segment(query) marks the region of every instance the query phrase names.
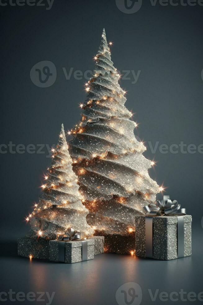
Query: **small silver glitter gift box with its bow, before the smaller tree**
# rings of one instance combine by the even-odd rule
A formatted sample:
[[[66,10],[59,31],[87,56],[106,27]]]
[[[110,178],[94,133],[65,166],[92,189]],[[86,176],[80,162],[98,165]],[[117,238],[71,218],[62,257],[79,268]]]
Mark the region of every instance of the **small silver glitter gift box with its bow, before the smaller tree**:
[[[49,242],[49,260],[67,264],[78,263],[94,258],[94,240],[80,239],[79,231],[65,230],[64,236]]]

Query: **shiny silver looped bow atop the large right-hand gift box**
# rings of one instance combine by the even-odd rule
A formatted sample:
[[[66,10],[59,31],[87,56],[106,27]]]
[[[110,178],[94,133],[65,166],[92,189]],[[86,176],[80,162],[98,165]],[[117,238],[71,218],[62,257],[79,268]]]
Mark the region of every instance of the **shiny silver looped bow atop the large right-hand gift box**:
[[[171,200],[169,195],[164,195],[163,199],[156,202],[157,204],[149,204],[143,207],[147,216],[186,215],[186,209],[181,209],[178,201]]]

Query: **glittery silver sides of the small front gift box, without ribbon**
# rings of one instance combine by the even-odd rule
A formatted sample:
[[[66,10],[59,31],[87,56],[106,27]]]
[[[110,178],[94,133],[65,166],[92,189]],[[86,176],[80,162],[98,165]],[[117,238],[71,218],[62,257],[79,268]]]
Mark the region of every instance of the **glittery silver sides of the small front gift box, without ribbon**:
[[[58,243],[61,241],[52,240],[49,242],[50,246],[50,257],[51,261],[59,261],[58,254]],[[65,263],[72,264],[82,261],[82,242],[72,241],[65,243]],[[88,239],[88,260],[94,258],[94,240]]]

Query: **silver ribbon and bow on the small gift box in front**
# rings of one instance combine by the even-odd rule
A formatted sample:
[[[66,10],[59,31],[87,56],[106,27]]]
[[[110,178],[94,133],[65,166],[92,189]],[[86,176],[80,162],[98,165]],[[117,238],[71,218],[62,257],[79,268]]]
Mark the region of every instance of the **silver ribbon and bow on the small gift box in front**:
[[[73,228],[68,228],[64,231],[65,234],[58,236],[58,258],[60,262],[65,262],[65,242],[82,242],[82,261],[88,260],[88,241],[80,238],[80,231],[75,231]]]

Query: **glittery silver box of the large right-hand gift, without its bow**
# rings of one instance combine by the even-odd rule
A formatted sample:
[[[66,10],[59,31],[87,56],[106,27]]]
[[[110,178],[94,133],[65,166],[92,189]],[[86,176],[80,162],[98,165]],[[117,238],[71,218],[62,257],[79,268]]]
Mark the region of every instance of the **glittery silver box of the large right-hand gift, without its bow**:
[[[178,241],[178,217],[182,217],[183,223],[179,230],[183,231],[183,239]],[[140,257],[149,257],[146,253],[149,245],[149,236],[153,240],[152,258],[156,260],[173,260],[178,258],[178,249],[183,247],[183,255],[192,255],[191,224],[192,216],[155,216],[147,217],[152,221],[152,232],[146,231],[146,216],[135,218],[135,254]],[[181,226],[180,226],[181,227]]]

